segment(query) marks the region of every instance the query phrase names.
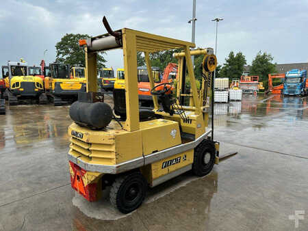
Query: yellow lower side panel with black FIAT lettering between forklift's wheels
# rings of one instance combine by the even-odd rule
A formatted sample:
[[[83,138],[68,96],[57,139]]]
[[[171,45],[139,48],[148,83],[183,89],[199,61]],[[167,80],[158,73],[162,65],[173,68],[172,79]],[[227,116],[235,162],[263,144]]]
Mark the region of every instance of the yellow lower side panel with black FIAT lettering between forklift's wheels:
[[[194,150],[188,150],[151,164],[152,179],[159,178],[194,161]]]

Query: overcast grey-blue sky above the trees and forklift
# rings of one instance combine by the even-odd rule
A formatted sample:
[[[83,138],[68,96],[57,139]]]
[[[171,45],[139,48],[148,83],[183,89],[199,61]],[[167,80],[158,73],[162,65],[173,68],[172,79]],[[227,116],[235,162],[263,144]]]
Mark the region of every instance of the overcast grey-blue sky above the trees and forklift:
[[[55,60],[55,44],[65,33],[106,33],[107,16],[114,29],[128,27],[181,40],[191,40],[192,0],[57,0],[1,1],[0,63],[23,57],[39,65],[47,49],[47,63]],[[242,51],[251,64],[258,51],[274,62],[308,62],[308,0],[196,0],[196,46],[215,46],[218,26],[218,64],[230,51]],[[121,51],[105,57],[107,66],[123,67]]]

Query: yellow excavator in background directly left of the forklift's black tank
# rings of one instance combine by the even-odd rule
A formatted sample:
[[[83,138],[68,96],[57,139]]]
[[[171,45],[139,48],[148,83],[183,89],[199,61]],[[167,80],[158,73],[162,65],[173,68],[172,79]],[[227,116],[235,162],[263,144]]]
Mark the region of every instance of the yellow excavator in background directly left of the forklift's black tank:
[[[61,106],[77,100],[79,92],[86,92],[86,79],[70,79],[68,64],[53,63],[49,64],[49,73],[44,79],[44,86],[53,105]]]

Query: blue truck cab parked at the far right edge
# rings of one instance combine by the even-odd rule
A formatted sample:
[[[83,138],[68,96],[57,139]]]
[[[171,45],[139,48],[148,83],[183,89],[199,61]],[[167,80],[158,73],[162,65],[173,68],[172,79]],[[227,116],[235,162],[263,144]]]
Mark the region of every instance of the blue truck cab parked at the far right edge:
[[[283,94],[289,96],[307,95],[307,70],[293,69],[285,73]]]

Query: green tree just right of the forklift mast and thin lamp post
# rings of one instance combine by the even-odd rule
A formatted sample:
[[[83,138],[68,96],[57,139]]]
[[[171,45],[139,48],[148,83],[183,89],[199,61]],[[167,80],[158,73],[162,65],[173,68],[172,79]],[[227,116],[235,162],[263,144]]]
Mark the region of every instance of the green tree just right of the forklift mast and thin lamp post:
[[[231,51],[229,56],[225,59],[224,66],[222,66],[219,77],[223,78],[240,78],[243,74],[244,65],[246,65],[246,58],[242,52],[234,55],[234,52]]]

